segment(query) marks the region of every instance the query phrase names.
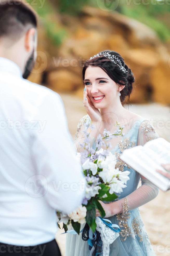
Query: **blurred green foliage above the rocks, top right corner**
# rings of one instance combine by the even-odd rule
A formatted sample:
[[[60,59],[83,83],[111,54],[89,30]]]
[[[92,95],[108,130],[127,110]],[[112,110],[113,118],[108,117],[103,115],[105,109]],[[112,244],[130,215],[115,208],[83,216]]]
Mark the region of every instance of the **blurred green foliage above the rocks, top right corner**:
[[[170,30],[160,19],[166,13],[170,17],[170,0],[97,0],[96,7],[136,19],[151,27],[162,41],[170,40]]]

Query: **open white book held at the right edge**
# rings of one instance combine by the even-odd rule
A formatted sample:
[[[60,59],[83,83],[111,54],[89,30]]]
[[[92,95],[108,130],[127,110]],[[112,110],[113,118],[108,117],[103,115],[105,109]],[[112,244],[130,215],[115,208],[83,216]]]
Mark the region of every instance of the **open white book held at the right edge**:
[[[148,141],[144,146],[125,149],[120,159],[149,181],[166,191],[170,189],[170,179],[157,170],[166,172],[161,164],[170,163],[170,143],[163,138]]]

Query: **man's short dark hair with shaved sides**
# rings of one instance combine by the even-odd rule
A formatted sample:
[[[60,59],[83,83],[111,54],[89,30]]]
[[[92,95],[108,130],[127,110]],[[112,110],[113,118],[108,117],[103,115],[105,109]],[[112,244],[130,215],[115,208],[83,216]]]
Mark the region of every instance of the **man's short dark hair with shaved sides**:
[[[0,0],[0,38],[17,39],[27,25],[37,28],[37,14],[24,0]]]

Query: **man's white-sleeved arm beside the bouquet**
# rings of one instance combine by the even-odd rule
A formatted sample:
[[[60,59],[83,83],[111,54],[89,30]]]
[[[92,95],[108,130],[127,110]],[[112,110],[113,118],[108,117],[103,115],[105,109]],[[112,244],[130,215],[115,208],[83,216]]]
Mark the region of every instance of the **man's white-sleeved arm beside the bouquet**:
[[[70,213],[82,203],[85,179],[60,96],[53,92],[45,96],[36,116],[44,127],[34,132],[32,153],[37,174],[47,185],[44,198],[54,209]]]

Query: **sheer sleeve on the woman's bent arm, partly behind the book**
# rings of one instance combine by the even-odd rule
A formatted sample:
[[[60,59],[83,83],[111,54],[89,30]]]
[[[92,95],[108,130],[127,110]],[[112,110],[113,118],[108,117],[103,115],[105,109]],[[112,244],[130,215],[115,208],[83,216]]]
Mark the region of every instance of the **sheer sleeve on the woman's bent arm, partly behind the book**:
[[[138,132],[138,145],[144,145],[147,141],[158,138],[158,133],[155,132],[154,127],[149,120],[145,120],[141,123]],[[129,211],[138,208],[145,203],[153,200],[159,193],[159,188],[156,187],[152,182],[146,179],[144,176],[141,177],[141,186],[129,194],[127,197],[122,198],[115,203],[117,204],[118,213],[122,213],[125,208]],[[125,207],[126,206],[126,207]]]

